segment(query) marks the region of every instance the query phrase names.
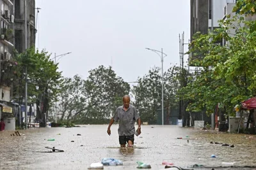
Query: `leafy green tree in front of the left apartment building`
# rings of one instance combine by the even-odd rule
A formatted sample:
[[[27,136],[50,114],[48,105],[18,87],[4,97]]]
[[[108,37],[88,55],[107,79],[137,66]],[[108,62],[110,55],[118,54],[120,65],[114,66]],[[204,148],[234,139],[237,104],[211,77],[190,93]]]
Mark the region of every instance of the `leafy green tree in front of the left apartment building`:
[[[14,99],[22,103],[25,97],[25,80],[28,82],[28,103],[36,103],[38,120],[44,126],[44,113],[48,116],[49,108],[56,101],[57,85],[60,83],[61,73],[58,65],[50,60],[50,55],[42,50],[29,48],[26,52],[15,54],[14,60],[18,65],[15,72],[19,82],[14,85]],[[27,74],[26,74],[27,72]]]

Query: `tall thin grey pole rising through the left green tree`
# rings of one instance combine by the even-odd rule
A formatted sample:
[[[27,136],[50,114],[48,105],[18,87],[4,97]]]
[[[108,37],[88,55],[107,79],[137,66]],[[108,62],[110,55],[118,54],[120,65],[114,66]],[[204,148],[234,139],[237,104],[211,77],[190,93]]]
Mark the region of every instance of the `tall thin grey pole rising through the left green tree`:
[[[28,31],[27,31],[27,1],[24,0],[24,5],[25,5],[25,51],[27,53],[27,48],[28,48]],[[25,129],[28,128],[28,72],[27,72],[27,66],[25,67]]]

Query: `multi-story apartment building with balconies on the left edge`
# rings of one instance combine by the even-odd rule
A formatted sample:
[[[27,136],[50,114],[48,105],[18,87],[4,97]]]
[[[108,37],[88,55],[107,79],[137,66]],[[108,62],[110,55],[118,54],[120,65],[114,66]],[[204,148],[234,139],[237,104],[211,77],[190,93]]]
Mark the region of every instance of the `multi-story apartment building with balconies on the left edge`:
[[[25,3],[26,2],[26,3]],[[35,0],[0,0],[0,118],[12,99],[12,77],[8,73],[14,50],[24,52],[35,45]],[[27,28],[27,32],[25,31]],[[27,41],[26,41],[27,40]]]

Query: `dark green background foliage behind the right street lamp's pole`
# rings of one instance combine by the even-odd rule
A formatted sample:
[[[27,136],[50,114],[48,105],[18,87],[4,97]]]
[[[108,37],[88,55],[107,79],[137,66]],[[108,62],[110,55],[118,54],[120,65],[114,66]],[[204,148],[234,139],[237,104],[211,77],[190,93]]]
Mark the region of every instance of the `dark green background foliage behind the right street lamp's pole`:
[[[172,108],[178,104],[175,95],[179,89],[179,67],[173,66],[164,73],[164,110],[170,116]],[[134,105],[138,108],[141,120],[148,124],[157,123],[157,110],[161,111],[162,85],[161,73],[158,67],[150,69],[148,74],[138,78],[138,84],[132,89]],[[166,120],[164,120],[166,124]]]

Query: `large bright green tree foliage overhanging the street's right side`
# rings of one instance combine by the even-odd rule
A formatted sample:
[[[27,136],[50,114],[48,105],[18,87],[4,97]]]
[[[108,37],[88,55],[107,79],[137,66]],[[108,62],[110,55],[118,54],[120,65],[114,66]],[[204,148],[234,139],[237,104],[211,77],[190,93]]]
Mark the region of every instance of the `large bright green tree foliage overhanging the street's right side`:
[[[180,91],[184,95],[179,97],[189,101],[187,110],[206,109],[207,113],[213,113],[220,104],[232,113],[236,104],[255,96],[256,31],[252,29],[253,25],[255,21],[246,20],[245,15],[227,15],[214,34],[195,34],[189,53],[204,58],[191,62],[202,71],[195,75],[195,81]],[[227,41],[226,45],[216,44],[222,39]]]

